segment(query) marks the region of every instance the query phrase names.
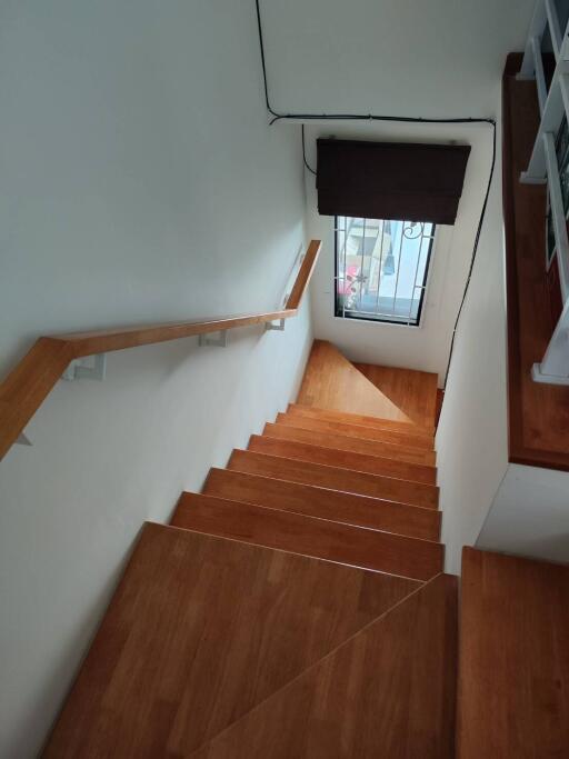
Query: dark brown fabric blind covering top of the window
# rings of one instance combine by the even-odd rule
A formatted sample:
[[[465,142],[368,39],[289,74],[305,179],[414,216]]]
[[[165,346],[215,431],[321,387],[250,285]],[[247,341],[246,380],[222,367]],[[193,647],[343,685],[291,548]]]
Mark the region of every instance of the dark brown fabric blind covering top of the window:
[[[317,140],[323,216],[453,224],[470,146]]]

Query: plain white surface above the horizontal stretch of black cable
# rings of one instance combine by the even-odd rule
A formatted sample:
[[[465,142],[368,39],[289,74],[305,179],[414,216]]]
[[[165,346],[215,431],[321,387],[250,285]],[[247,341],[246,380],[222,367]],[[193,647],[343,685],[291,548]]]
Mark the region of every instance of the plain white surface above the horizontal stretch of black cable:
[[[493,116],[535,0],[260,0],[282,111]]]

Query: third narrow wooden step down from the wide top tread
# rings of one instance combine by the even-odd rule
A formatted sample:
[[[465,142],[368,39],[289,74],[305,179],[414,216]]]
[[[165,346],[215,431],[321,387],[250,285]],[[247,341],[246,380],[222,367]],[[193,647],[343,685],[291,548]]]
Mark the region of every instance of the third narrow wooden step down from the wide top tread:
[[[439,502],[438,489],[421,482],[407,482],[393,477],[369,475],[251,450],[234,449],[227,468],[430,509],[437,509]]]

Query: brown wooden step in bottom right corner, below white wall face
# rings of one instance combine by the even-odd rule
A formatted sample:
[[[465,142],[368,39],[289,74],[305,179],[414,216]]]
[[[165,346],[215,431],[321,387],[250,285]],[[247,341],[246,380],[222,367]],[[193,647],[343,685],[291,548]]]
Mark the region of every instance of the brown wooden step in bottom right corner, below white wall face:
[[[462,553],[459,759],[569,756],[569,567]]]

